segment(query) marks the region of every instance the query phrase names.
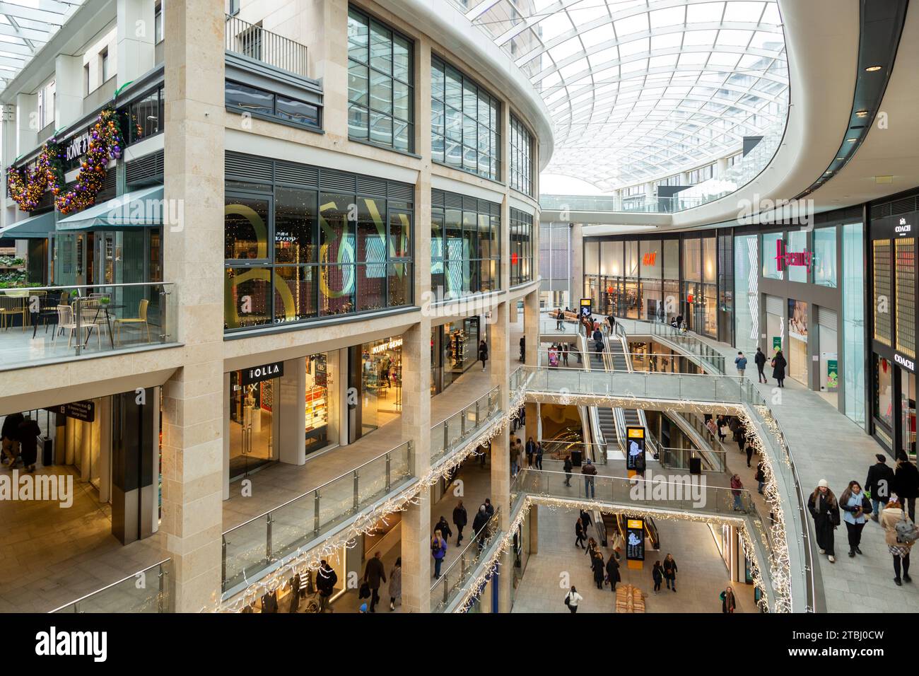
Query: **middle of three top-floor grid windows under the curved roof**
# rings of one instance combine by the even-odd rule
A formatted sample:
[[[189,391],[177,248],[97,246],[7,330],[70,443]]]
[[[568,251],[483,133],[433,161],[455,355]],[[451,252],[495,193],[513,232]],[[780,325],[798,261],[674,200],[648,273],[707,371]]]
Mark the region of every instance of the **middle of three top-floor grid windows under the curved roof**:
[[[484,178],[501,179],[500,103],[459,70],[431,57],[431,155]]]

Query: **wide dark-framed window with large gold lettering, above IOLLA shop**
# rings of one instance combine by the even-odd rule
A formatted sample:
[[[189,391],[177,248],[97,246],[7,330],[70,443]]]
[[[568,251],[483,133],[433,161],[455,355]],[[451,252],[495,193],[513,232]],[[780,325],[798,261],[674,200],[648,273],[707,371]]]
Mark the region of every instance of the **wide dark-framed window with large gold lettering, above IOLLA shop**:
[[[412,304],[411,203],[240,185],[225,200],[227,329]]]

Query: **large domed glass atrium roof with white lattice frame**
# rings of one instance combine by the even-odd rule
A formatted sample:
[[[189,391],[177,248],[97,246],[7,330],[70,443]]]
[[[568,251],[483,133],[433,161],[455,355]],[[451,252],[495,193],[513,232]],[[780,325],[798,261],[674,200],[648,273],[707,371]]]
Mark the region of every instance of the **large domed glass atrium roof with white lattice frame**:
[[[785,125],[775,0],[453,0],[542,95],[547,174],[605,191],[673,176]]]

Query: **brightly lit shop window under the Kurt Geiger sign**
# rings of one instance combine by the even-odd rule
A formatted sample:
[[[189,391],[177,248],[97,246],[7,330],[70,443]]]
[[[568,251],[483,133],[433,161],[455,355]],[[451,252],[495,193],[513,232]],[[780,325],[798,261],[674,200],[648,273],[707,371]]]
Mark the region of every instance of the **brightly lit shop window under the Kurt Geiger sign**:
[[[402,337],[361,347],[361,434],[377,430],[402,412]]]

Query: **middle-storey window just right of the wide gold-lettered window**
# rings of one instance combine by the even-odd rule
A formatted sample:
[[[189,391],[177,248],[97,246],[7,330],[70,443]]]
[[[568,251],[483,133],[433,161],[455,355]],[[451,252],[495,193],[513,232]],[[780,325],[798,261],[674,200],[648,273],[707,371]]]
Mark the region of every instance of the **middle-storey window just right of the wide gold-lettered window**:
[[[431,201],[432,292],[450,299],[500,289],[501,205],[440,190]]]

